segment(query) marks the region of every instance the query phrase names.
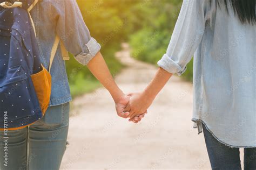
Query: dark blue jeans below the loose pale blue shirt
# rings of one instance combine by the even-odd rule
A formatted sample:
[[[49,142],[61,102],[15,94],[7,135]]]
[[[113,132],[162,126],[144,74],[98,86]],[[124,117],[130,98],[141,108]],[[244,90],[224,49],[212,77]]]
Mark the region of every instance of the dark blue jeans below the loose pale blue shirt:
[[[240,151],[237,147],[229,147],[215,139],[203,124],[203,132],[212,169],[241,169]],[[256,148],[244,148],[244,169],[256,169]]]

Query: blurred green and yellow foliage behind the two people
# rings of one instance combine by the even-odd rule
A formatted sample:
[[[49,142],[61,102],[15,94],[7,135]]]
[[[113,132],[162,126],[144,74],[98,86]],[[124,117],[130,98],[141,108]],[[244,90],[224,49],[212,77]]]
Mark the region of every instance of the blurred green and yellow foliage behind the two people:
[[[182,0],[77,0],[91,36],[102,45],[112,74],[124,67],[114,53],[129,41],[134,58],[156,65],[166,52]],[[89,70],[75,59],[66,62],[73,96],[99,87]],[[192,79],[192,62],[184,73]]]

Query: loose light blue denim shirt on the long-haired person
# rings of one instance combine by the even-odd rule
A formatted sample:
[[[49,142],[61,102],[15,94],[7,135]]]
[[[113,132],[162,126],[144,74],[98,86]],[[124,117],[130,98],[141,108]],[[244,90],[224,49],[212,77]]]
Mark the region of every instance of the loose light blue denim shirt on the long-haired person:
[[[158,65],[182,75],[194,54],[192,121],[199,133],[204,123],[221,143],[256,147],[256,25],[210,2],[184,0]]]

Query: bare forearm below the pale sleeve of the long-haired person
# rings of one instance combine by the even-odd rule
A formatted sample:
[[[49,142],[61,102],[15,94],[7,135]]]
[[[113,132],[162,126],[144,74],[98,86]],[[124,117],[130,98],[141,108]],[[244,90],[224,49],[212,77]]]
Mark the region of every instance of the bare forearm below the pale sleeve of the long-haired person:
[[[143,95],[150,100],[154,100],[157,94],[163,89],[167,81],[173,74],[167,72],[163,68],[159,67],[156,76],[150,82],[150,84],[143,91]]]

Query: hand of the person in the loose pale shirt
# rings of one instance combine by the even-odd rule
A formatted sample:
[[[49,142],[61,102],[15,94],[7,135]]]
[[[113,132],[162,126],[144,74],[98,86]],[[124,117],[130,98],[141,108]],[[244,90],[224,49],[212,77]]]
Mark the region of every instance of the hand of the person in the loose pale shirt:
[[[152,104],[153,99],[147,98],[143,93],[132,93],[129,96],[130,102],[125,108],[126,112],[130,112],[129,121],[140,121],[147,113],[147,109]]]

